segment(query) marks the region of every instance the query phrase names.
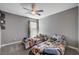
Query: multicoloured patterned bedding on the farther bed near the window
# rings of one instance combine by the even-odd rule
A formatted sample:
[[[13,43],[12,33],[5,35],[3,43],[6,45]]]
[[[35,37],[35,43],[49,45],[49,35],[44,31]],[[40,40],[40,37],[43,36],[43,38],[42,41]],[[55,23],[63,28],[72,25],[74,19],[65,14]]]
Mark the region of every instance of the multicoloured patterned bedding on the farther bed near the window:
[[[42,43],[42,42],[44,42],[46,40],[47,40],[47,37],[43,36],[43,35],[39,35],[39,36],[36,36],[36,37],[28,38],[26,43],[25,43],[25,47],[27,49],[27,48],[33,47],[34,45]]]

